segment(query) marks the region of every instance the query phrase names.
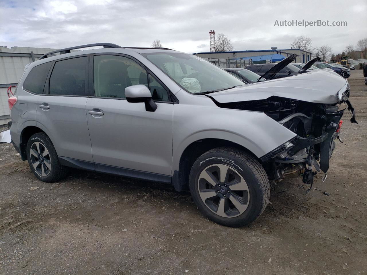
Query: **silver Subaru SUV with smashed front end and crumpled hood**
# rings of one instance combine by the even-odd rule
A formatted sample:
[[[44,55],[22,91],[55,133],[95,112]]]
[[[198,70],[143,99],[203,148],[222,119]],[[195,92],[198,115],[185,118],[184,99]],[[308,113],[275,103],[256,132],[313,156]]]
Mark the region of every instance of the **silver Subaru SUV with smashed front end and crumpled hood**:
[[[244,85],[166,48],[61,49],[26,67],[8,100],[11,140],[41,181],[73,167],[170,183],[237,227],[264,211],[269,179],[312,184],[312,165],[327,175],[339,104],[356,122],[348,81],[314,71]]]

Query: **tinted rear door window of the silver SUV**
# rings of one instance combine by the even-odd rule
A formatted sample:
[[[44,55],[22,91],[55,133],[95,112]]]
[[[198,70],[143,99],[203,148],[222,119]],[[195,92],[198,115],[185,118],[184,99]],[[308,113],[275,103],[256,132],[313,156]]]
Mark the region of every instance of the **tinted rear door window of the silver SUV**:
[[[57,61],[50,77],[50,95],[85,95],[87,56]]]

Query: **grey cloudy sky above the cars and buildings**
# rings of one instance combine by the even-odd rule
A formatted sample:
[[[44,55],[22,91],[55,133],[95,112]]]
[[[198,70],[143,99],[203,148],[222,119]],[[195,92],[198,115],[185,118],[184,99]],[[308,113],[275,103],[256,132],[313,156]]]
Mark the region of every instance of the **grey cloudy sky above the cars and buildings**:
[[[348,26],[274,26],[275,21],[347,21]],[[235,50],[290,48],[299,35],[337,54],[367,37],[366,0],[0,0],[0,45],[63,48],[97,42],[209,51],[209,30]]]

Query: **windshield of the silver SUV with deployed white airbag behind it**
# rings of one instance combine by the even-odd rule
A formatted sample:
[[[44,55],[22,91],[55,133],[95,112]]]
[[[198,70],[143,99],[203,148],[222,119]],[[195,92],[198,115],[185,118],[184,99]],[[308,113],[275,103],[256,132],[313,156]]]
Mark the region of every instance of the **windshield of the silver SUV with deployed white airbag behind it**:
[[[192,94],[223,91],[244,85],[238,78],[196,55],[179,52],[142,55]]]

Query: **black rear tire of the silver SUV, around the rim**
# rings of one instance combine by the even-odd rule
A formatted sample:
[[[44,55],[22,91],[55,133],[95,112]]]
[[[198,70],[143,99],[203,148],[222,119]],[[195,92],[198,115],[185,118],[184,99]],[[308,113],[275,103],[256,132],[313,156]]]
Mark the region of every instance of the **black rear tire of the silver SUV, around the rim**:
[[[47,149],[48,151],[48,155],[47,155],[47,160],[45,161],[49,161],[51,166],[50,169],[47,170],[47,175],[45,173],[45,175],[41,175],[40,172],[40,166],[42,166],[42,164],[39,164],[39,166],[37,166],[37,168],[34,168],[33,163],[36,163],[36,159],[34,155],[31,156],[31,148],[35,148],[36,147],[36,143],[39,142],[41,144],[39,144],[40,147],[42,147],[42,144],[44,146],[44,148]],[[37,152],[36,152],[37,153]],[[56,153],[55,147],[51,142],[50,137],[48,137],[46,135],[46,133],[40,132],[40,133],[35,133],[34,135],[32,135],[27,143],[27,159],[28,159],[28,164],[30,169],[32,170],[33,174],[37,177],[37,179],[41,180],[41,181],[45,181],[45,182],[54,182],[54,181],[58,181],[61,180],[63,177],[65,177],[68,173],[68,167],[63,166],[60,164],[59,159],[58,159],[58,155]],[[45,170],[47,169],[46,166],[44,166]]]

